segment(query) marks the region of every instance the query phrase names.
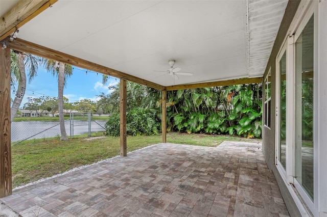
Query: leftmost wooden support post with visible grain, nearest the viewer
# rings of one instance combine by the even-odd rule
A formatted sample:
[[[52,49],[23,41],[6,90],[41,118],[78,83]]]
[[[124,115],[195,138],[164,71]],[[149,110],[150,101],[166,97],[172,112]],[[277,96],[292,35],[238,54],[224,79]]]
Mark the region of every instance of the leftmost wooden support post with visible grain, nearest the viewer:
[[[10,49],[0,49],[0,198],[12,194]]]

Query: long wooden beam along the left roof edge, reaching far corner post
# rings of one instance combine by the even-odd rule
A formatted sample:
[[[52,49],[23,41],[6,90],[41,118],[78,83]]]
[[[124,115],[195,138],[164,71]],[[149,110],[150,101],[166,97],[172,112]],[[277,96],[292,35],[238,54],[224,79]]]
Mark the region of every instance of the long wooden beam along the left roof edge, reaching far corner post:
[[[99,64],[92,63],[87,60],[83,60],[83,59],[80,59],[80,58],[77,58],[77,57],[74,57],[71,55],[67,55],[66,53],[63,53],[63,52],[60,52],[57,50],[53,50],[50,48],[46,48],[46,47],[22,40],[22,39],[17,39],[16,41],[9,42],[9,47],[14,50],[31,53],[32,55],[44,57],[46,59],[56,60],[56,61],[63,62],[63,63],[69,64],[69,65],[78,66],[78,67],[81,67],[81,68],[84,68],[87,70],[99,72],[99,73],[110,75],[110,76],[117,77],[120,79],[126,79],[131,82],[145,85],[145,86],[155,88],[158,90],[165,89],[164,86],[155,84],[153,82],[149,82],[148,80],[138,78],[133,75],[129,75],[124,72],[114,70],[114,69],[111,69],[111,68],[108,68],[105,66],[101,66]]]

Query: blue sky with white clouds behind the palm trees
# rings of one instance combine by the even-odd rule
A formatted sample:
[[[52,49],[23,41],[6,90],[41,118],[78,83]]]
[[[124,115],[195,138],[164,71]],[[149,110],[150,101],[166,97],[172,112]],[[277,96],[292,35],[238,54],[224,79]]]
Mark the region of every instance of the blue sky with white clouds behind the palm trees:
[[[28,79],[28,78],[27,78]],[[87,71],[78,67],[74,67],[73,75],[67,79],[67,85],[64,89],[64,96],[69,99],[69,102],[75,102],[81,99],[91,99],[97,101],[97,95],[103,93],[110,93],[107,87],[119,82],[119,79],[110,77],[106,86],[102,85],[102,74]],[[13,92],[13,89],[12,89]],[[40,96],[58,96],[57,77],[52,76],[51,73],[46,72],[43,68],[39,68],[37,76],[31,83],[27,81],[26,93],[21,102],[20,107],[27,102],[27,97]],[[13,98],[13,94],[11,96]]]

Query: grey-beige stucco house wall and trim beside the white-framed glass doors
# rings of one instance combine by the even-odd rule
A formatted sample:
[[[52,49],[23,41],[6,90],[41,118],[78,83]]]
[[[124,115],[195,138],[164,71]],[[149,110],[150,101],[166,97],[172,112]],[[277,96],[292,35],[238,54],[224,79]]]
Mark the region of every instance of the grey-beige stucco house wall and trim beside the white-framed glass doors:
[[[285,15],[283,17],[283,21],[279,28],[268,64],[265,71],[265,75],[267,75],[269,69],[271,68],[271,128],[263,127],[262,135],[262,151],[264,153],[267,165],[269,169],[271,169],[276,177],[279,188],[281,189],[281,193],[284,199],[284,202],[287,206],[287,209],[291,216],[301,216],[298,208],[296,207],[281,175],[279,175],[277,168],[275,166],[275,118],[276,118],[276,67],[275,61],[276,56],[279,49],[282,46],[282,43],[287,35],[287,30],[290,26],[290,23],[294,17],[296,9],[299,5],[300,1],[298,0],[290,0]]]

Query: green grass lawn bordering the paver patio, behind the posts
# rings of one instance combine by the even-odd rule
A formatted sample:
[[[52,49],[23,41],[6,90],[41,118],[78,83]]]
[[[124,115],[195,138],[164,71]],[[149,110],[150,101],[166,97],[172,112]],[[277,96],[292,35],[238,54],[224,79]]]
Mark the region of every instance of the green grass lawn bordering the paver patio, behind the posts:
[[[100,134],[92,134],[100,135]],[[84,138],[83,138],[84,137]],[[167,142],[216,147],[223,141],[251,141],[226,135],[186,134],[171,132]],[[134,151],[161,142],[161,135],[127,137],[127,151]],[[75,167],[92,164],[120,154],[120,138],[105,137],[85,140],[80,135],[68,141],[58,138],[29,140],[12,146],[13,187],[50,177]]]

